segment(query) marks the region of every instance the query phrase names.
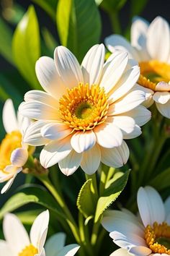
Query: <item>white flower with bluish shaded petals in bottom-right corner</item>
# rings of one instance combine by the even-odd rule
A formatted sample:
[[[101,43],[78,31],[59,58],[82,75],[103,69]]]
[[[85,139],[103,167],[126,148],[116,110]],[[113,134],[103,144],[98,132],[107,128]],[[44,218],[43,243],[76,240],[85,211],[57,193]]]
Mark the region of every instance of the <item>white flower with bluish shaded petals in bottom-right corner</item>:
[[[122,247],[112,256],[170,255],[170,197],[164,203],[153,187],[140,187],[138,209],[141,221],[126,209],[104,215],[104,229]]]

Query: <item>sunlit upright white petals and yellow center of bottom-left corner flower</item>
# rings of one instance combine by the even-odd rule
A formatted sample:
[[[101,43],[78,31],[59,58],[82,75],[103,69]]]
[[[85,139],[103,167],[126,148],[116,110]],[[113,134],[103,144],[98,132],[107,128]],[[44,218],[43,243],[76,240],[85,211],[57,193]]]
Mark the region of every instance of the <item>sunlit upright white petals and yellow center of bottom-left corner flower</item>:
[[[45,210],[35,219],[30,238],[19,219],[12,213],[4,217],[3,231],[6,241],[0,240],[0,256],[45,256],[49,212]]]

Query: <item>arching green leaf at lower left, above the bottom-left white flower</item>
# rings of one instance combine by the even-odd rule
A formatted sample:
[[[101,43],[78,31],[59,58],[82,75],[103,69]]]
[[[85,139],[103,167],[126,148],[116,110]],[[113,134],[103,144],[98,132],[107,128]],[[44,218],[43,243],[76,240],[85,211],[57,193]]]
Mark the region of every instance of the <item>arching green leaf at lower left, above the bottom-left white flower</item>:
[[[22,189],[22,192],[19,192],[9,198],[0,210],[0,219],[3,218],[5,213],[12,212],[13,210],[18,209],[23,205],[27,205],[30,202],[42,205],[43,207],[53,210],[53,212],[61,215],[61,212],[58,210],[57,203],[48,191],[44,189],[44,187],[32,185],[29,187],[25,186],[24,189]]]

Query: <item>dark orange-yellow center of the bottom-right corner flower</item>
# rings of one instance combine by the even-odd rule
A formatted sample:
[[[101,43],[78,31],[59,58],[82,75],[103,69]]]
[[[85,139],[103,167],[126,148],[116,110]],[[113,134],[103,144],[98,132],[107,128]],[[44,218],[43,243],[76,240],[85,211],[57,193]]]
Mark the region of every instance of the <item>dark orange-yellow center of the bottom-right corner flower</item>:
[[[152,252],[170,255],[170,226],[167,223],[154,222],[153,226],[148,225],[145,229],[145,239]]]

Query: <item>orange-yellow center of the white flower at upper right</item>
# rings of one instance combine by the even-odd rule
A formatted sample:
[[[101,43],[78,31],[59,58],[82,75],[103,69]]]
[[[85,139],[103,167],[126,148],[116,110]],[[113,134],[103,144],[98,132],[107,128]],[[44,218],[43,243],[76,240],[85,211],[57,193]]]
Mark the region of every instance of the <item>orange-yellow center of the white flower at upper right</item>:
[[[151,90],[155,90],[158,82],[170,81],[170,65],[164,62],[151,60],[139,63],[140,77],[138,84]]]

